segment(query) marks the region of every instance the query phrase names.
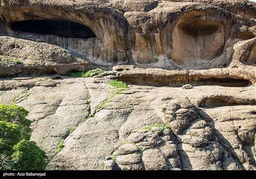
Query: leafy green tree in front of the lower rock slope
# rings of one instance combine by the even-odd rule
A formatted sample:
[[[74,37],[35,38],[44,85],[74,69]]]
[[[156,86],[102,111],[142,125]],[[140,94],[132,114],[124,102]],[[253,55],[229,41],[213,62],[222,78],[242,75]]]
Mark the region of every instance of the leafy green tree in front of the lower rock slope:
[[[0,105],[0,169],[42,170],[46,155],[31,137],[28,111],[18,105]]]

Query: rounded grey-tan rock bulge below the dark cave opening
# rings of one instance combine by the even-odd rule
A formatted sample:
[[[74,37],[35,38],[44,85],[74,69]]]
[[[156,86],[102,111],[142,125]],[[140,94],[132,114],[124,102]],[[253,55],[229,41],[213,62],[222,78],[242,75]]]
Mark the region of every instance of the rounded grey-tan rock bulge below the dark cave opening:
[[[71,52],[20,38],[0,36],[0,76],[66,74],[93,68]]]

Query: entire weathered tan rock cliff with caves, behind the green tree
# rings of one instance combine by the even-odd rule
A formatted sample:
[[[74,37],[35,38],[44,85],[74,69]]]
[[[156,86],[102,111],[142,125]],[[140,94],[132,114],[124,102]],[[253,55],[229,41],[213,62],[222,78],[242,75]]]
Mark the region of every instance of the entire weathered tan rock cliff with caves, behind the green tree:
[[[240,0],[0,0],[0,103],[28,109],[47,169],[256,169],[255,12]],[[106,72],[54,77],[93,68]]]

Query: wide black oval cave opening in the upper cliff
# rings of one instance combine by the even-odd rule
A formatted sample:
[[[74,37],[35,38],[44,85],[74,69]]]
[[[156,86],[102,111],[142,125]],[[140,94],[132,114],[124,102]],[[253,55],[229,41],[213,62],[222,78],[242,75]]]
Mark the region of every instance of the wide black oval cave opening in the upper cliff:
[[[24,33],[56,35],[65,38],[87,39],[95,37],[92,29],[70,20],[22,20],[13,22],[11,28],[14,31],[22,31]]]

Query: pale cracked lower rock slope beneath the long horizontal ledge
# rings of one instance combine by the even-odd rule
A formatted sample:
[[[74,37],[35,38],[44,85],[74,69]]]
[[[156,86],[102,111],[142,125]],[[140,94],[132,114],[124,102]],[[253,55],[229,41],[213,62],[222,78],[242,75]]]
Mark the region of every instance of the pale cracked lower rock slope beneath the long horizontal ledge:
[[[93,94],[116,90],[108,77],[51,78],[0,82],[1,103],[29,110],[47,169],[255,169],[255,86],[129,85],[99,109],[106,97]],[[237,104],[204,104],[216,97]]]

